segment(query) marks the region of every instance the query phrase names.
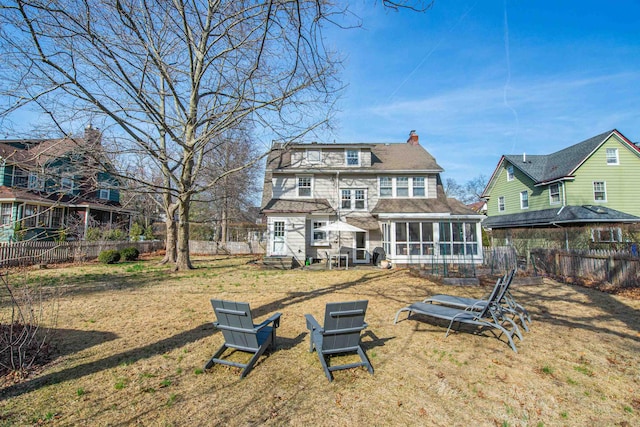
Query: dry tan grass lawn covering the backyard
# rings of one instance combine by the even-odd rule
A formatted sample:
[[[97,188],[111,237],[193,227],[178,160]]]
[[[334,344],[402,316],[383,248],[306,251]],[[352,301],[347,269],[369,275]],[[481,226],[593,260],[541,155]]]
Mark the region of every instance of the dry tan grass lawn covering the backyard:
[[[0,425],[640,425],[640,301],[552,281],[516,286],[534,320],[516,354],[490,332],[445,339],[441,325],[393,325],[426,295],[486,289],[405,270],[265,271],[248,261],[29,272],[63,289],[59,355],[1,386]],[[222,343],[212,297],[247,301],[258,320],[283,313],[277,350],[244,380],[220,365],[201,372]],[[303,315],[321,319],[326,302],[352,299],[369,300],[363,346],[375,374],[339,371],[329,383]]]

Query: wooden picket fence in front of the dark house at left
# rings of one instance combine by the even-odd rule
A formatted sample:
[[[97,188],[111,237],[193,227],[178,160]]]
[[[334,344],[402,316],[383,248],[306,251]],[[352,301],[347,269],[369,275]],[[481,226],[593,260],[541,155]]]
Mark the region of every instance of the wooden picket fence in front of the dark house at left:
[[[148,242],[42,242],[25,241],[0,244],[0,268],[86,261],[98,257],[107,249],[137,248],[140,253],[164,249],[164,241]]]

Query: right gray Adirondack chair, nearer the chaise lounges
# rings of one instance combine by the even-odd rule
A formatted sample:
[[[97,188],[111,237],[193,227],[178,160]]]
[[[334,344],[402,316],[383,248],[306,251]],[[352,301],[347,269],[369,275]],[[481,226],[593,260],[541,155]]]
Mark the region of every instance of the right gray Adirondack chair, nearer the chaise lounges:
[[[367,300],[328,303],[324,313],[324,328],[310,315],[305,314],[309,329],[309,352],[315,349],[324,373],[331,382],[331,372],[340,369],[365,366],[370,374],[373,367],[360,346],[360,332],[367,324],[364,315],[367,311]],[[328,359],[333,355],[357,353],[360,362],[329,366]]]

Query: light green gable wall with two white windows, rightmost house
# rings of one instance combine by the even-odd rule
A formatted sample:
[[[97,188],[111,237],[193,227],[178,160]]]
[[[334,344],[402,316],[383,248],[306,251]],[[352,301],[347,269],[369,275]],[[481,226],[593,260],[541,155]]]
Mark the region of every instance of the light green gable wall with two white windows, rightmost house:
[[[606,149],[618,149],[618,165],[608,165]],[[640,216],[640,155],[612,136],[589,157],[567,182],[567,204],[601,205]],[[606,201],[596,201],[593,182],[606,183]]]

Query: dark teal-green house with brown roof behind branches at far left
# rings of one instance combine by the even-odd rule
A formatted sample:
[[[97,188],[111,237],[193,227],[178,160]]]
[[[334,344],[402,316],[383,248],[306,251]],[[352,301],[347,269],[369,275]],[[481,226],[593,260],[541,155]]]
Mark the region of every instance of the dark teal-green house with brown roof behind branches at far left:
[[[91,227],[129,227],[101,133],[0,141],[0,242],[82,239]]]

